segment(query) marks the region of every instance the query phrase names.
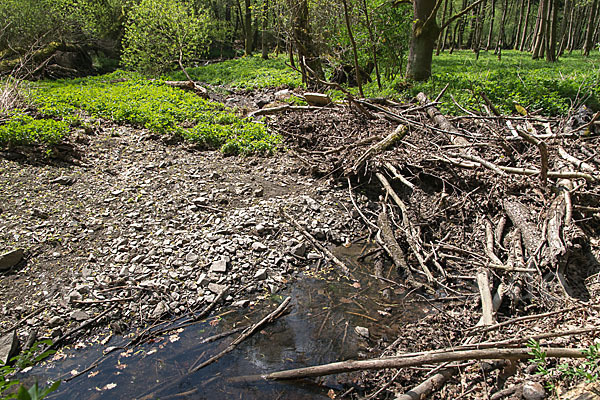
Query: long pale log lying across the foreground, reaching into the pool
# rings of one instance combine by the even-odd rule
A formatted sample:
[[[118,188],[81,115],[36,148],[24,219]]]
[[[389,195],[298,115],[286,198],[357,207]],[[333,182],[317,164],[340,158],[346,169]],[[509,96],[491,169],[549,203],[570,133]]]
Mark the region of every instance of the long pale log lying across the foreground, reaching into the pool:
[[[550,358],[585,358],[584,349],[546,348],[546,357]],[[296,368],[272,372],[260,376],[265,380],[303,379],[315,376],[342,374],[354,371],[381,370],[388,368],[408,368],[425,364],[439,364],[466,360],[528,360],[533,358],[531,349],[524,348],[489,348],[481,350],[461,350],[438,353],[427,353],[415,357],[389,357],[368,360],[349,360],[312,367]],[[247,377],[247,379],[259,377]]]

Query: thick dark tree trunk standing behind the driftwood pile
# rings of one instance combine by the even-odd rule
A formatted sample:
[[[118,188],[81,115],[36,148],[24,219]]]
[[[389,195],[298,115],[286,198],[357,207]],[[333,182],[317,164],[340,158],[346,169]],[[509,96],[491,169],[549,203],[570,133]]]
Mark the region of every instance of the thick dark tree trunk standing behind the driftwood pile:
[[[414,19],[406,77],[426,81],[431,77],[435,40],[440,30],[435,20],[436,0],[414,0]]]

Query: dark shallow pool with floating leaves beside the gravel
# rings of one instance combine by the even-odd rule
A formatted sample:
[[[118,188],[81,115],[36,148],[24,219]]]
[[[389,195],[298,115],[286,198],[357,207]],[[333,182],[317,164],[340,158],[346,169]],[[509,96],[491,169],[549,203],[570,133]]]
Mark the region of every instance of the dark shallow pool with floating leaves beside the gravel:
[[[403,303],[400,288],[370,276],[372,266],[356,261],[360,251],[357,245],[335,251],[352,266],[358,282],[340,279],[335,271],[314,266],[288,289],[265,297],[254,307],[213,316],[133,350],[113,351],[96,368],[63,382],[49,398],[327,399],[332,389],[339,393],[350,388],[357,375],[296,382],[247,381],[239,377],[368,356],[374,342],[382,337],[395,339],[402,324],[427,312]],[[194,364],[224,349],[239,333],[200,344],[204,338],[257,322],[286,296],[292,297],[287,315],[218,362],[194,374],[187,373]],[[369,338],[360,336],[356,327],[367,328]],[[30,378],[72,376],[86,370],[107,346],[127,342],[127,338],[113,337],[105,345],[89,343],[85,348],[68,350],[58,359],[36,367]]]

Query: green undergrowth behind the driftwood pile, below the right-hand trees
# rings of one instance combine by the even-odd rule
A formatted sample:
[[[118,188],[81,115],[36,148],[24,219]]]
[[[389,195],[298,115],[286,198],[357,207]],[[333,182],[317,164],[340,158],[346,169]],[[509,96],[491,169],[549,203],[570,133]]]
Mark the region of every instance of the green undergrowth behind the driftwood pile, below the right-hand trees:
[[[503,114],[516,112],[515,103],[529,112],[565,115],[572,107],[585,104],[600,109],[600,55],[586,58],[581,54],[561,57],[558,62],[532,60],[531,54],[503,51],[499,61],[493,52],[481,52],[479,60],[471,51],[443,53],[433,58],[433,75],[424,83],[407,84],[403,78],[384,82],[383,90],[375,82],[365,87],[366,96],[389,96],[407,100],[419,92],[435,98],[448,85],[440,99],[447,114],[464,114],[460,106],[484,112],[481,93],[485,93]],[[374,74],[373,74],[374,75]]]

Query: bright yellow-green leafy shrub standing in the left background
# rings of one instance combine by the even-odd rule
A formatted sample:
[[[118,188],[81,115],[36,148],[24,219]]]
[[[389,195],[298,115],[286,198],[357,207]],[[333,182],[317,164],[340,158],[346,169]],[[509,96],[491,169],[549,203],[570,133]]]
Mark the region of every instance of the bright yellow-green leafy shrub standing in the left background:
[[[208,49],[211,20],[179,0],[142,0],[130,12],[122,62],[139,72],[158,74],[187,63]]]

